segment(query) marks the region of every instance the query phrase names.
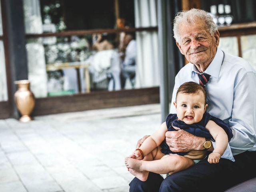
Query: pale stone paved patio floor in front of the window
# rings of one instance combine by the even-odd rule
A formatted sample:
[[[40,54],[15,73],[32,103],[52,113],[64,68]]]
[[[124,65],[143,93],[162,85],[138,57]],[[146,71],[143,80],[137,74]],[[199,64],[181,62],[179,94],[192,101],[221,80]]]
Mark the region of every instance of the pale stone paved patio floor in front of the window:
[[[124,157],[160,121],[160,104],[0,120],[0,191],[127,192]]]

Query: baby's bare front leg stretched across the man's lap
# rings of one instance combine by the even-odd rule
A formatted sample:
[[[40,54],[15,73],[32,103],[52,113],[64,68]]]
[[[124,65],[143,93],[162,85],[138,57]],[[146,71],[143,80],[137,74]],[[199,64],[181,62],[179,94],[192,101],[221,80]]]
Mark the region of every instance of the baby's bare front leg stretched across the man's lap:
[[[172,174],[192,166],[194,162],[190,158],[170,154],[166,158],[154,161],[140,161],[130,158],[128,164],[130,168],[140,172],[150,171],[158,174]]]

